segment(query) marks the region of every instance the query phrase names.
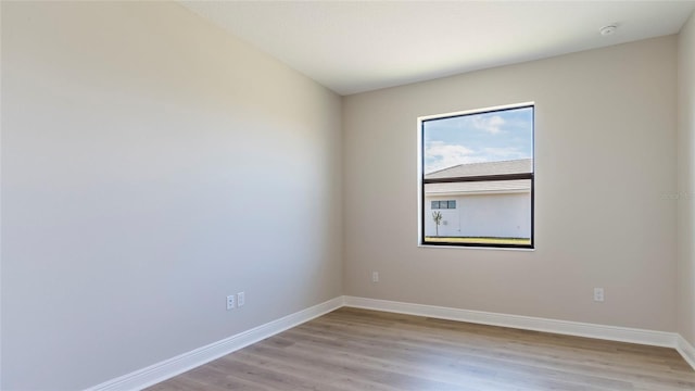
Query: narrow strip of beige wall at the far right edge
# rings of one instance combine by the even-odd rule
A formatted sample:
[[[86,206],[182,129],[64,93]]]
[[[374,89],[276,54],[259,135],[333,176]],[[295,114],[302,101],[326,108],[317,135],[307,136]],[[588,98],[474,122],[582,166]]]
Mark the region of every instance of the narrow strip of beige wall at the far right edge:
[[[678,331],[695,345],[695,14],[678,49]]]

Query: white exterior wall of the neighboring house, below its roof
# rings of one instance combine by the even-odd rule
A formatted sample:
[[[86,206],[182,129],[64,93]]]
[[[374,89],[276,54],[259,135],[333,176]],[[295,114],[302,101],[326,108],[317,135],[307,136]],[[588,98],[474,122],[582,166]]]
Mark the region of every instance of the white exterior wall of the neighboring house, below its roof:
[[[455,200],[456,209],[437,210],[442,214],[442,237],[531,237],[531,193],[458,194],[425,197],[425,235],[435,236],[432,203]]]

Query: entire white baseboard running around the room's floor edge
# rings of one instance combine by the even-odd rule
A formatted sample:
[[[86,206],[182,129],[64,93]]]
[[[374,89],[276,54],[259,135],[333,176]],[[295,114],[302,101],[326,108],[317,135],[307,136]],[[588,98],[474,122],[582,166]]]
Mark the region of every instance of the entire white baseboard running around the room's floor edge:
[[[546,319],[531,316],[507,315],[483,311],[459,310],[434,305],[413,304],[356,297],[339,297],[309,308],[290,314],[251,330],[240,332],[222,341],[211,343],[176,357],[165,360],[147,368],[105,381],[86,391],[129,391],[169,379],[176,375],[238,351],[250,344],[273,337],[342,306],[427,316],[440,319],[468,321],[491,326],[503,326],[523,330],[554,332],[567,336],[587,337],[610,341],[641,343],[675,349],[695,369],[695,348],[675,332],[664,332],[627,327],[585,324]]]

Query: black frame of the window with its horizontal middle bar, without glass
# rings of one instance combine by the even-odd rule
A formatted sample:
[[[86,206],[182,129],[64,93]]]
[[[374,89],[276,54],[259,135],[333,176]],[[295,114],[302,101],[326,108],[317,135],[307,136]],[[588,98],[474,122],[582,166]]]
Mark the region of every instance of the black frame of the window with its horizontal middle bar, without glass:
[[[495,112],[505,112],[510,110],[519,110],[519,109],[531,109],[531,172],[522,173],[522,174],[500,174],[500,175],[481,175],[481,176],[470,176],[470,177],[451,177],[451,178],[425,178],[425,124],[429,121],[439,121],[445,118],[453,117],[462,117],[462,116],[470,116],[470,115],[479,115],[479,114],[489,114]],[[442,115],[429,115],[427,117],[418,118],[419,126],[419,199],[420,199],[420,218],[419,218],[419,244],[427,247],[458,247],[458,248],[501,248],[501,249],[535,249],[535,103],[522,103],[517,105],[507,105],[500,106],[493,109],[482,109],[482,110],[472,110],[466,111],[462,113],[452,113],[452,114],[442,114]],[[425,186],[429,184],[446,184],[446,182],[468,182],[468,181],[498,181],[498,180],[519,180],[527,179],[530,180],[530,191],[531,191],[531,237],[529,244],[510,244],[510,243],[462,243],[462,242],[453,242],[453,241],[427,241],[425,235],[425,211],[426,211],[426,199],[425,199]],[[440,201],[441,202],[441,201]]]

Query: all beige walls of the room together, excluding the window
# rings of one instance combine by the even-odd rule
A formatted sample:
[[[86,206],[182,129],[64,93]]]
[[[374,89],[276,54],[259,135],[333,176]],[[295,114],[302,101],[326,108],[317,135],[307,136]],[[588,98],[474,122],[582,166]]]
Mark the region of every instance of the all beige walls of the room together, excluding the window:
[[[341,106],[176,4],[1,10],[2,390],[94,386],[343,293],[695,343],[693,17]],[[527,101],[536,250],[417,248],[416,118]]]

